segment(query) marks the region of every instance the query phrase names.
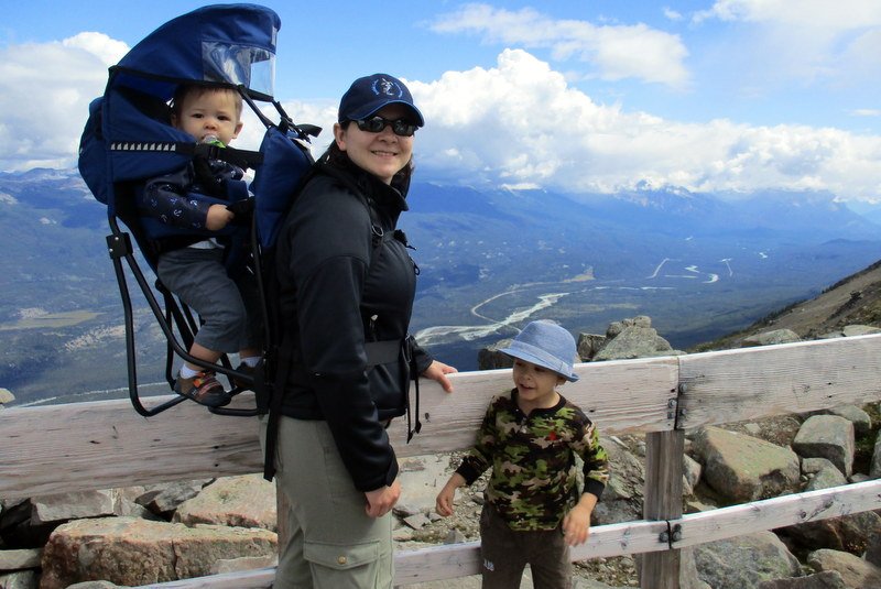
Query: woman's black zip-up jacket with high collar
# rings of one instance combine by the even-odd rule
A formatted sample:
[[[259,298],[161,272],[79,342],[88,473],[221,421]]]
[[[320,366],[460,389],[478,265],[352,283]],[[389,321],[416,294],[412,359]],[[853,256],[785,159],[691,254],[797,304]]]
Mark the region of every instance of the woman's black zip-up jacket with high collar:
[[[415,378],[404,345],[417,269],[395,232],[407,206],[404,194],[354,166],[318,163],[315,172],[278,243],[282,330],[294,338],[281,413],[326,421],[355,487],[372,491],[398,476],[385,425],[405,412]],[[387,239],[374,250],[379,233]],[[400,341],[401,353],[369,367],[365,343],[383,340]],[[413,353],[421,373],[432,360],[418,347]]]

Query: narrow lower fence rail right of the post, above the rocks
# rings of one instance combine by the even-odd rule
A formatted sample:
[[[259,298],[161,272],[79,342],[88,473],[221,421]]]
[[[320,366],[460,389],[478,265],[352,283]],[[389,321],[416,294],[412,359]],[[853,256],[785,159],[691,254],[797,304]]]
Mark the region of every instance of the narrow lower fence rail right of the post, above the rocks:
[[[754,501],[718,510],[683,515],[671,525],[679,525],[682,535],[673,543],[684,548],[787,525],[839,517],[881,509],[881,480],[871,480],[820,489],[806,493]]]

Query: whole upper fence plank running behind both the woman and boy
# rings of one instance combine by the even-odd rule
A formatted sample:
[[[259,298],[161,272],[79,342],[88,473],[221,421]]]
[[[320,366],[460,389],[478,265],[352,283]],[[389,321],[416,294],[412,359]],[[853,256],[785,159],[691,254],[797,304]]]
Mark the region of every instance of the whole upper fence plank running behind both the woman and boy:
[[[675,359],[581,364],[578,372],[584,382],[567,384],[565,394],[603,433],[672,427],[665,404],[676,377]],[[489,400],[511,386],[510,370],[453,379],[453,394],[422,381],[422,434],[406,444],[405,418],[390,428],[399,456],[469,447]],[[151,407],[168,399],[143,403]],[[252,395],[239,395],[233,406],[252,407]],[[255,417],[215,415],[189,402],[149,418],[137,414],[128,400],[13,406],[0,412],[0,497],[260,472],[258,429]]]

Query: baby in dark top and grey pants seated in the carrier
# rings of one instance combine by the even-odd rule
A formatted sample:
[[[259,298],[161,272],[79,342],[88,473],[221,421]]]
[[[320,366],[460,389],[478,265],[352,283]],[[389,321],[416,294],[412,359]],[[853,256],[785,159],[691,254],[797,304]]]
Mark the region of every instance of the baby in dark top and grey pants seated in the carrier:
[[[230,88],[181,85],[172,101],[172,124],[199,143],[220,148],[241,131],[241,96]],[[194,160],[183,170],[152,178],[139,195],[144,222],[166,237],[154,240],[159,251],[156,275],[203,320],[189,355],[209,364],[224,353],[239,352],[239,370],[250,372],[260,360],[259,314],[255,285],[243,264],[227,257],[236,215],[227,205],[248,199],[243,171],[220,160]],[[203,405],[219,407],[230,401],[215,372],[184,362],[175,392]]]

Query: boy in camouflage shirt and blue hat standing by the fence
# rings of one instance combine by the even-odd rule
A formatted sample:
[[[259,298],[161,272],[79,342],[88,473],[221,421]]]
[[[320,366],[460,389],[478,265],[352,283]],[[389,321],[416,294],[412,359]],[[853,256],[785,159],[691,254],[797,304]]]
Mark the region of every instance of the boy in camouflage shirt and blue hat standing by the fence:
[[[574,382],[575,339],[533,321],[502,352],[514,358],[514,389],[492,400],[470,454],[437,495],[453,513],[456,489],[492,467],[480,514],[483,589],[520,587],[526,564],[536,589],[572,587],[569,547],[583,544],[609,478],[599,433],[556,386]],[[584,460],[578,493],[575,456]]]

